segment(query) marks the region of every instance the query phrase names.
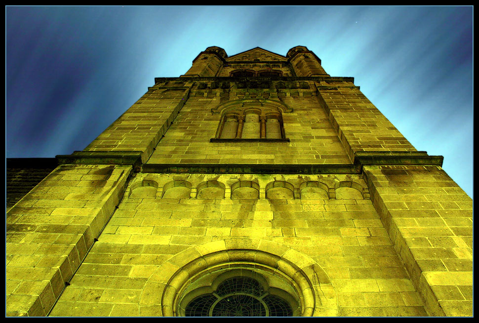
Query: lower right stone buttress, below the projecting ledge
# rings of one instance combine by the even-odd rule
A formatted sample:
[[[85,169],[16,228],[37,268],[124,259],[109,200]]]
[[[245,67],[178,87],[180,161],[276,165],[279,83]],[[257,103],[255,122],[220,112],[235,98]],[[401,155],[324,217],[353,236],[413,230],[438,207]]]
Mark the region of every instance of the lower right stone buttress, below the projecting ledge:
[[[430,315],[470,316],[471,198],[438,166],[364,170],[371,199]]]

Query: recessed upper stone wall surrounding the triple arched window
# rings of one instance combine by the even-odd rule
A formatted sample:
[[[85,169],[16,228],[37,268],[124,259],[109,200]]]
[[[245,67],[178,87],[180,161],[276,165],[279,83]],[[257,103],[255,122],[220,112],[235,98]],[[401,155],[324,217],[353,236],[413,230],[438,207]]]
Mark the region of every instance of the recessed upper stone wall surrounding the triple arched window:
[[[211,84],[207,82],[208,85]],[[297,82],[293,82],[295,86]],[[233,83],[232,83],[233,84]],[[338,164],[351,163],[339,137],[310,89],[193,88],[186,105],[156,146],[148,163],[250,163]],[[235,85],[236,87],[236,85]],[[239,99],[271,99],[293,110],[283,113],[284,132],[290,142],[210,142],[221,114],[211,110]]]

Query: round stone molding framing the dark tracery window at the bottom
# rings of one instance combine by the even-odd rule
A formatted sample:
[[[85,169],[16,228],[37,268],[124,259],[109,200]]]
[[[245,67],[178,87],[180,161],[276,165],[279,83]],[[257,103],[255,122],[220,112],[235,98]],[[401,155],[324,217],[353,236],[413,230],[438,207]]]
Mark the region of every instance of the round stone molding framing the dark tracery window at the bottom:
[[[296,292],[298,316],[338,314],[336,292],[311,257],[277,242],[232,238],[189,247],[160,265],[140,296],[140,316],[179,316],[188,286],[204,275],[238,269],[268,273],[289,282]]]

